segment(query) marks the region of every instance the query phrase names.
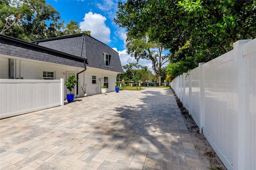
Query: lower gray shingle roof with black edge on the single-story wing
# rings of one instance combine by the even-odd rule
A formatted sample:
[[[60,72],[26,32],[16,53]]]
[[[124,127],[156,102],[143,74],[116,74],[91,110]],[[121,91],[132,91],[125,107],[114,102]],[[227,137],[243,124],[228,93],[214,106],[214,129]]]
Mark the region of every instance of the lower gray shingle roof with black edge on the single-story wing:
[[[0,34],[0,54],[84,68],[86,59]]]

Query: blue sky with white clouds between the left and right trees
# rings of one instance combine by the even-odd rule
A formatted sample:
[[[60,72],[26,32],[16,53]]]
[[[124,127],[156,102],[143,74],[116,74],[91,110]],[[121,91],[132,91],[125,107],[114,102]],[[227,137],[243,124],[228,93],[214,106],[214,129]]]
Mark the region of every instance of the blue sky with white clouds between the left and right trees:
[[[122,65],[136,60],[126,53],[126,30],[113,21],[118,10],[118,0],[46,0],[68,23],[78,22],[82,31],[91,31],[91,36],[118,51]],[[149,60],[139,64],[152,70]]]

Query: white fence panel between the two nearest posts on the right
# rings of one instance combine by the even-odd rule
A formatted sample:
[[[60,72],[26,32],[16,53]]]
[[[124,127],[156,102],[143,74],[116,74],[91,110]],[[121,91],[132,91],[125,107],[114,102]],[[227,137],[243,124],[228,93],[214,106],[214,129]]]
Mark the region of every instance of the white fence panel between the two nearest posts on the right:
[[[205,88],[204,134],[214,141],[228,164],[233,164],[233,57],[234,50],[202,65]]]

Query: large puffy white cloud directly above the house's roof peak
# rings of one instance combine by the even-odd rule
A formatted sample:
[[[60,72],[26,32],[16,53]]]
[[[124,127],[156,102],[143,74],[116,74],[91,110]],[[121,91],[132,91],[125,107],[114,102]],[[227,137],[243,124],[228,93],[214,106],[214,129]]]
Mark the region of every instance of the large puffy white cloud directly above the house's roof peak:
[[[97,40],[109,43],[110,40],[110,28],[105,24],[106,17],[101,14],[88,12],[84,15],[83,22],[80,22],[80,29],[82,31],[90,31],[91,36]]]

